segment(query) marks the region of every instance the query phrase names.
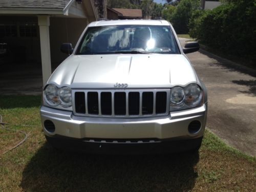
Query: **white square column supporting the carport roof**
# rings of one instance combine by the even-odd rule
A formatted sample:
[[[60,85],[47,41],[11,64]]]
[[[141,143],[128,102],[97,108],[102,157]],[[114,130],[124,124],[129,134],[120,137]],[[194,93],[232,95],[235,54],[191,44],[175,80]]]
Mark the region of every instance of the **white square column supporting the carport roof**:
[[[40,33],[41,61],[42,61],[42,82],[45,86],[48,78],[52,74],[51,53],[50,53],[50,16],[38,15],[38,26]]]

